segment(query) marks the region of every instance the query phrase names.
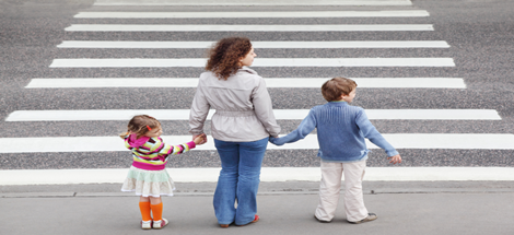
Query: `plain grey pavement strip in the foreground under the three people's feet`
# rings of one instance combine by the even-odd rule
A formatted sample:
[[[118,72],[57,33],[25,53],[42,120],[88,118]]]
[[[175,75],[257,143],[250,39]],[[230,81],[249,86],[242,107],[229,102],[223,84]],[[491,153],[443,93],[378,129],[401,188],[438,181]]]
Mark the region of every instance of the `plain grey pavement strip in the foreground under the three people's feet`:
[[[377,193],[364,195],[378,215],[350,224],[342,202],[330,223],[313,218],[315,193],[260,195],[259,222],[220,228],[212,196],[163,198],[162,231],[141,231],[137,199],[106,193],[40,195],[2,198],[0,225],[5,234],[512,234],[514,192],[505,193]]]

